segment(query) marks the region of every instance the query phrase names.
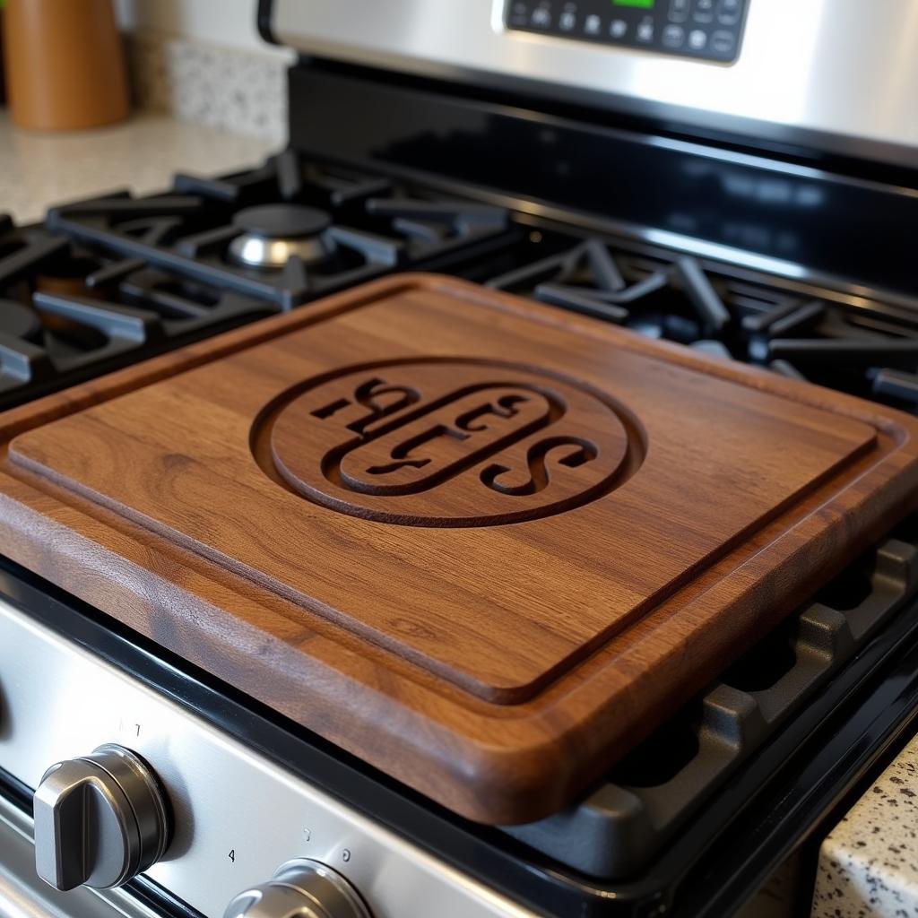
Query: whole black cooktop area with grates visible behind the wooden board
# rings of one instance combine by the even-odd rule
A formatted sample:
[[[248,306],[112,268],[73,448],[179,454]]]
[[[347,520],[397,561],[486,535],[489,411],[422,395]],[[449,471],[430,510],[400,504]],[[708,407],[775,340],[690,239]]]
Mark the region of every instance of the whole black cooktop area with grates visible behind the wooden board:
[[[43,226],[0,218],[0,407],[402,270],[918,407],[918,311],[591,234],[287,150]]]

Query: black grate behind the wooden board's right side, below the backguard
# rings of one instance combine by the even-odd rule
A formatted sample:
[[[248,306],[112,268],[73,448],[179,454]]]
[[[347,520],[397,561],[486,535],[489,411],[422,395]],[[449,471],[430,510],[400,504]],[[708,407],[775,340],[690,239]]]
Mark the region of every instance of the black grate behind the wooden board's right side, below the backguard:
[[[599,237],[487,281],[723,359],[918,411],[918,314],[750,283]]]

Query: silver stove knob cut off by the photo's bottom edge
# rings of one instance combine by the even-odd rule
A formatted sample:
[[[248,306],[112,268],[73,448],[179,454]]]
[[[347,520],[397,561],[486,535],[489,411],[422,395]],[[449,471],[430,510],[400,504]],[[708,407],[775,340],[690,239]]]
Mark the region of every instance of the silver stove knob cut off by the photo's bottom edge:
[[[274,879],[241,892],[223,918],[372,918],[357,890],[319,861],[288,861]]]

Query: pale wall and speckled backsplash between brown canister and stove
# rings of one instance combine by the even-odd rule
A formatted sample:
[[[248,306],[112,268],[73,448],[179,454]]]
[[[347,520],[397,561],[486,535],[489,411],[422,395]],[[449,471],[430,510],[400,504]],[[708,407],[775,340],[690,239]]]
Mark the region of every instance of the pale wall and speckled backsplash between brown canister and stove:
[[[115,0],[141,107],[285,140],[292,52],[265,43],[256,0]]]

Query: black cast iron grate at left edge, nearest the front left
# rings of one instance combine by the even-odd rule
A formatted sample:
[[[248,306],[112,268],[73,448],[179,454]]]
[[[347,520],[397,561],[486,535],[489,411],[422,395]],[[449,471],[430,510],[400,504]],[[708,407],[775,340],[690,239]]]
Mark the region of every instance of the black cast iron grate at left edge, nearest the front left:
[[[274,311],[0,216],[0,409]]]

